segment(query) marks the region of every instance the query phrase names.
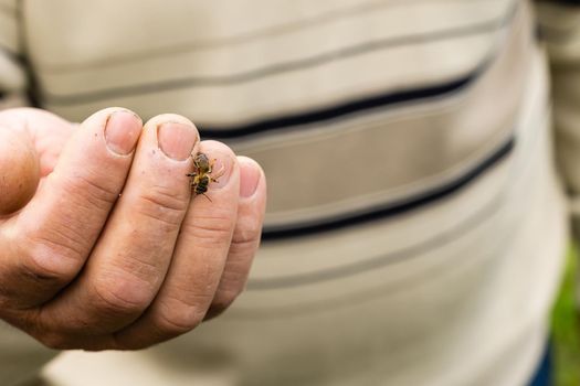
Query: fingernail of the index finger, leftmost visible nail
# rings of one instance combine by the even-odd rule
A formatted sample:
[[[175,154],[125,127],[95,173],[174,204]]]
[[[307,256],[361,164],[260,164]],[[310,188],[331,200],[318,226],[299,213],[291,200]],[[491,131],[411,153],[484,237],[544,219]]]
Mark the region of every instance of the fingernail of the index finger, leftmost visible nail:
[[[115,111],[110,115],[105,127],[105,141],[114,153],[129,154],[137,144],[141,133],[143,122],[130,111]]]

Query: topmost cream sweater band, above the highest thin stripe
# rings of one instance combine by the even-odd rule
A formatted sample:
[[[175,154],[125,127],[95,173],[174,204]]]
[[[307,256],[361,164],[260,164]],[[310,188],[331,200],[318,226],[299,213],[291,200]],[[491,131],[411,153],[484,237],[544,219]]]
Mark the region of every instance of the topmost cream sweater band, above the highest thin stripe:
[[[453,14],[462,13],[465,20],[478,20],[481,13],[488,13],[492,8],[502,8],[513,0],[472,0],[470,4],[457,0],[439,0],[436,7],[434,1],[360,1],[360,0],[334,0],[334,1],[266,1],[266,0],[241,0],[167,2],[150,0],[144,7],[141,1],[127,0],[119,4],[113,0],[98,2],[77,3],[74,0],[53,0],[50,4],[43,0],[27,1],[27,13],[34,22],[39,34],[32,35],[32,45],[39,45],[35,57],[38,64],[45,67],[48,63],[54,65],[55,57],[59,63],[67,58],[67,41],[75,44],[77,41],[94,42],[93,50],[75,44],[75,57],[70,60],[78,65],[94,65],[103,63],[99,46],[107,46],[107,56],[116,61],[128,58],[130,55],[144,55],[146,52],[164,51],[169,47],[179,47],[187,44],[209,45],[224,43],[245,43],[249,36],[264,36],[277,39],[280,34],[299,32],[308,28],[325,28],[327,23],[340,22],[352,19],[360,12],[365,13],[381,7],[388,7],[393,12],[401,9],[418,10],[411,14],[422,17],[424,11],[432,10],[433,18],[425,19],[428,25],[439,23],[441,20],[454,19]],[[129,11],[138,9],[138,12]],[[127,10],[127,11],[125,11]],[[217,12],[215,10],[220,10]],[[256,11],[259,10],[259,11]],[[455,10],[455,11],[454,11]],[[450,12],[451,11],[451,12]],[[458,12],[457,12],[458,11]],[[430,11],[431,12],[431,11]],[[46,20],[45,15],[52,18]],[[71,19],[74,15],[74,19]],[[444,15],[439,18],[437,15]],[[71,24],[81,22],[83,28],[76,29],[78,36],[68,36]],[[98,31],[102,23],[106,22],[108,29],[117,25],[123,28],[123,34],[110,34],[116,44],[110,44],[106,35],[95,35],[92,31]],[[396,22],[399,28],[405,23]],[[144,25],[144,28],[140,28]],[[298,25],[299,29],[294,26]],[[381,25],[381,29],[390,29]],[[407,25],[409,30],[410,25]],[[413,29],[420,28],[414,25]],[[155,33],[151,33],[155,32]],[[180,32],[178,34],[172,32]],[[367,32],[370,32],[367,29]],[[46,36],[62,35],[64,42],[42,42]],[[46,43],[43,46],[41,43]],[[175,50],[173,50],[175,51]],[[173,52],[172,51],[172,52]],[[179,50],[178,50],[179,51]],[[95,62],[98,61],[98,62]],[[52,66],[51,65],[51,66]],[[70,67],[68,67],[70,68]]]

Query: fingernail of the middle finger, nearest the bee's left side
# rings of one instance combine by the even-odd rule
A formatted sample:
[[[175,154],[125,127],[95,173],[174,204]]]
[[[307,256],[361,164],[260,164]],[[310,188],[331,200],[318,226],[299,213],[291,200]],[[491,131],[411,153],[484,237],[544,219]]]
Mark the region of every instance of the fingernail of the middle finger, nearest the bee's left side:
[[[167,122],[160,125],[157,130],[159,148],[167,157],[184,161],[191,156],[198,141],[198,130],[193,126]]]

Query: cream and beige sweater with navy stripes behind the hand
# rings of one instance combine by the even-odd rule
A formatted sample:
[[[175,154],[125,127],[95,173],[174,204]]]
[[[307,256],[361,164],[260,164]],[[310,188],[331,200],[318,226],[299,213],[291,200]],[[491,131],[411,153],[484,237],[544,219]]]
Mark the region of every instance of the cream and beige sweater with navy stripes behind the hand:
[[[580,211],[577,4],[0,0],[3,107],[181,114],[268,178],[223,317],[144,352],[63,353],[42,377],[525,385],[566,245],[558,174]],[[1,328],[2,384],[52,355]]]

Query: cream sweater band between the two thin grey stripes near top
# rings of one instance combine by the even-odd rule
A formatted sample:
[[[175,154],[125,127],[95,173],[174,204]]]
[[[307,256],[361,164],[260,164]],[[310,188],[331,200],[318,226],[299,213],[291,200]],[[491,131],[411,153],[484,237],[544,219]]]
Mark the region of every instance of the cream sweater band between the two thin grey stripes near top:
[[[123,66],[96,66],[80,73],[67,71],[62,74],[48,74],[43,71],[43,66],[39,65],[39,73],[44,88],[50,89],[50,94],[60,96],[139,85],[144,79],[136,78],[135,74],[143,71],[148,72],[146,77],[148,84],[191,77],[199,79],[198,83],[202,86],[212,85],[211,79],[215,79],[214,83],[218,84],[228,84],[230,83],[228,79],[243,78],[245,74],[267,73],[267,68],[278,66],[296,67],[298,63],[309,63],[317,57],[327,57],[326,62],[339,60],[341,52],[373,42],[384,45],[388,50],[389,46],[429,44],[440,34],[442,36],[449,34],[446,39],[451,39],[453,34],[467,35],[483,33],[484,30],[492,32],[502,25],[507,18],[506,13],[512,9],[512,7],[507,9],[481,7],[473,10],[473,6],[465,4],[463,10],[454,7],[451,18],[436,18],[439,12],[446,11],[445,7],[442,10],[440,8],[442,7],[439,4],[408,6],[394,10],[391,7],[356,19],[315,25],[314,31],[296,30],[291,35],[270,36],[267,41],[251,41],[240,46],[218,47],[211,52],[175,53],[161,57],[150,55],[136,63]],[[411,14],[422,22],[401,23],[401,20],[408,20]],[[465,14],[474,14],[477,18],[465,18]],[[441,21],[435,23],[434,20]],[[367,33],[352,33],[352,31]],[[108,61],[108,63],[114,62]],[[98,74],[99,82],[80,83],[95,73]]]

